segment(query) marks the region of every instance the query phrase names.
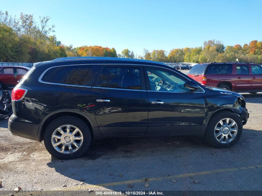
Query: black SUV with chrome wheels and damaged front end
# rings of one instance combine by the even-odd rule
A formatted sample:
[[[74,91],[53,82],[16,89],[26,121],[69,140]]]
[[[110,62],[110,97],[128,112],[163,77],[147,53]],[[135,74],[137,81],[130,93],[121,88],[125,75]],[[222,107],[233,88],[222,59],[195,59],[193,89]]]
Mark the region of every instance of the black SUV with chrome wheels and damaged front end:
[[[205,136],[236,143],[248,112],[242,95],[205,87],[165,64],[104,57],[35,63],[12,91],[14,135],[44,140],[60,159],[116,136]]]

